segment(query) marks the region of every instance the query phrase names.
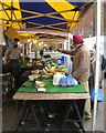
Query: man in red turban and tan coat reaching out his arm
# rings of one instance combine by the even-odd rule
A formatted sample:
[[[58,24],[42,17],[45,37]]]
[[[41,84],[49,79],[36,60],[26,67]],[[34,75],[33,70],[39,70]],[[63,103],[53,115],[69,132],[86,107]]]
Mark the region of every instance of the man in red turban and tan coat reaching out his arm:
[[[83,84],[89,95],[88,78],[91,66],[91,53],[85,44],[83,38],[73,35],[74,50],[57,49],[59,52],[73,55],[72,76],[74,76],[80,84]],[[86,100],[85,119],[91,119],[91,99]]]

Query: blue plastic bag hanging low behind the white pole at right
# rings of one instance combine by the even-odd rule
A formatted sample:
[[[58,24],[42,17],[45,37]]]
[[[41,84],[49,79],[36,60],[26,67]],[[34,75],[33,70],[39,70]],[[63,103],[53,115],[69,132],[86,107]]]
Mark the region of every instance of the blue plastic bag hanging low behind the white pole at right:
[[[94,101],[94,95],[95,95],[95,89],[91,89],[91,100]],[[98,93],[97,93],[97,101],[98,102],[104,102],[104,98],[98,89]]]

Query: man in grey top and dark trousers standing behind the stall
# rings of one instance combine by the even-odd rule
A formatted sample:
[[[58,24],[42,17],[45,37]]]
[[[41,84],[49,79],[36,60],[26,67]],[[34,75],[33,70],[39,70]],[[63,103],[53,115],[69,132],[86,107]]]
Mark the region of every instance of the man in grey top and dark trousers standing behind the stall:
[[[13,47],[8,48],[4,53],[4,64],[9,66],[9,71],[14,76],[15,85],[19,84],[19,79],[21,75],[20,62],[19,59],[21,58],[21,50],[18,48],[19,39],[14,38]]]

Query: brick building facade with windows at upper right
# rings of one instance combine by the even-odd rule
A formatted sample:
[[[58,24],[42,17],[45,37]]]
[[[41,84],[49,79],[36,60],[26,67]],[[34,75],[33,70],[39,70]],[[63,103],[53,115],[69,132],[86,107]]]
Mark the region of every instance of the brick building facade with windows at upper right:
[[[100,34],[106,35],[106,2],[100,4]],[[89,11],[82,18],[76,27],[71,32],[72,34],[80,34],[83,38],[95,37],[97,34],[97,3],[95,2]]]

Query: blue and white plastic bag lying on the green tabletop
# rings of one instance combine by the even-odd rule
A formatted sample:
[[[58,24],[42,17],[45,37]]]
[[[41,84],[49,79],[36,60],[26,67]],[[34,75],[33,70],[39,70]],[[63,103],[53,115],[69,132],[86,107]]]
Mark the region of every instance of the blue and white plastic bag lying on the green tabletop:
[[[63,76],[60,79],[60,85],[61,86],[74,86],[77,85],[76,79],[72,76]]]

